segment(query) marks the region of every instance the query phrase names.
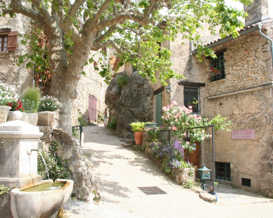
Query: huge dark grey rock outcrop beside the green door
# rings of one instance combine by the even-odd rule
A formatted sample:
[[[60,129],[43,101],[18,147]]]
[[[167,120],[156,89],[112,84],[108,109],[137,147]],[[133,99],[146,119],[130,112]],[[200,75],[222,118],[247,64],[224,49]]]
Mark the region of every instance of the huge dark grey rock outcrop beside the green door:
[[[125,74],[119,73],[119,74]],[[153,88],[148,80],[136,71],[129,77],[128,84],[121,89],[116,85],[114,77],[110,82],[105,103],[109,108],[109,121],[117,118],[116,135],[133,138],[131,122],[153,120]]]

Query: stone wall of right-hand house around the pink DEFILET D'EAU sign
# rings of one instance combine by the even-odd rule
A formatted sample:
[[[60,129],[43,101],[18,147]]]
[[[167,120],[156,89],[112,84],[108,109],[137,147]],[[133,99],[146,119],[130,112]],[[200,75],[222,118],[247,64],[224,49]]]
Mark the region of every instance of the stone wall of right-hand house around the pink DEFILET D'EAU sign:
[[[272,20],[263,23],[263,33],[273,39]],[[215,39],[211,39],[213,42]],[[173,45],[172,45],[173,43]],[[181,81],[205,83],[199,87],[200,113],[211,118],[229,115],[231,130],[255,129],[255,139],[232,140],[231,132],[215,133],[215,161],[231,163],[231,181],[237,188],[273,196],[272,148],[272,61],[270,42],[253,31],[212,47],[224,51],[226,78],[211,82],[211,59],[198,63],[189,44],[171,42],[174,69],[186,77]],[[185,50],[181,52],[181,50]],[[179,62],[180,61],[180,62]],[[183,105],[183,85],[171,79],[170,101]],[[242,116],[242,117],[241,117]],[[211,129],[207,130],[211,134]],[[199,165],[212,169],[212,139],[200,143]],[[251,180],[251,187],[242,185],[242,178]],[[223,182],[223,180],[221,180]]]

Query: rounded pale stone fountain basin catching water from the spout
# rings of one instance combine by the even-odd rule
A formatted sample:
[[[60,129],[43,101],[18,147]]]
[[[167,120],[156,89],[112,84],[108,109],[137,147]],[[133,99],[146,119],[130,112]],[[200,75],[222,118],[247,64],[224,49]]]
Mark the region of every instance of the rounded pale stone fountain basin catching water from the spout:
[[[53,183],[53,180],[51,180]],[[53,216],[68,200],[73,189],[73,180],[56,179],[55,182],[63,183],[60,189],[47,191],[22,191],[34,185],[12,189],[10,196],[10,207],[14,218],[47,218]],[[42,180],[35,184],[49,183]]]

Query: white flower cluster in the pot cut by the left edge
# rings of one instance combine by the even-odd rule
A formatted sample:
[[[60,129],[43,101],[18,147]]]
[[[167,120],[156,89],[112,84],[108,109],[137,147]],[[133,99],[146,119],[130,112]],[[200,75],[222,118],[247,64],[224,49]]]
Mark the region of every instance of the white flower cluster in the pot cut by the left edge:
[[[13,85],[0,83],[0,105],[6,105],[8,102],[18,100],[19,96],[15,93]]]

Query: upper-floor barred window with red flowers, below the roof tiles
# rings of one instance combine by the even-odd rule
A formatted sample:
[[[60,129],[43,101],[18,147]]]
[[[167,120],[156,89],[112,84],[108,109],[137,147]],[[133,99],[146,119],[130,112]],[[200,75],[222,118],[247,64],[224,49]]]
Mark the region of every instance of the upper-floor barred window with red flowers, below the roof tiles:
[[[226,78],[224,63],[224,54],[217,55],[217,58],[211,59],[211,69],[217,69],[216,72],[211,72],[211,82]]]

